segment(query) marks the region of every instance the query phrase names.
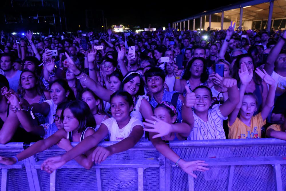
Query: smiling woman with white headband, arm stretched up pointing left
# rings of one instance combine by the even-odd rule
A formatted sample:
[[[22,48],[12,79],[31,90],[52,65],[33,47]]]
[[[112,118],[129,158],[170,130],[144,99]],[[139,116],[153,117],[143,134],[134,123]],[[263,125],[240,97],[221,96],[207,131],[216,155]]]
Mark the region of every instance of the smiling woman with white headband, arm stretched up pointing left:
[[[84,84],[87,88],[92,90],[100,99],[109,102],[110,96],[114,93],[112,90],[108,90],[102,87],[99,83],[96,83],[88,75],[81,72],[74,64],[68,54],[66,67],[69,71],[73,72],[78,80]],[[136,117],[140,121],[144,119],[152,119],[153,111],[151,105],[148,102],[149,97],[144,95],[144,82],[139,72],[128,72],[120,85],[120,90],[127,91],[131,94],[134,101],[133,111],[130,113],[131,117]]]

